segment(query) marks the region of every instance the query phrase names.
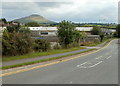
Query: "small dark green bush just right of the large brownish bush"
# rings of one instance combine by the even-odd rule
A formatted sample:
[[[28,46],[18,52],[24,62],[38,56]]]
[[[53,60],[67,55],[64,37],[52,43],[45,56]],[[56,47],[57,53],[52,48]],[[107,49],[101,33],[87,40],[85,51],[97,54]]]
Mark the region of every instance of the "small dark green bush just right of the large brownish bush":
[[[50,42],[43,39],[36,39],[34,44],[34,50],[38,52],[50,50]]]

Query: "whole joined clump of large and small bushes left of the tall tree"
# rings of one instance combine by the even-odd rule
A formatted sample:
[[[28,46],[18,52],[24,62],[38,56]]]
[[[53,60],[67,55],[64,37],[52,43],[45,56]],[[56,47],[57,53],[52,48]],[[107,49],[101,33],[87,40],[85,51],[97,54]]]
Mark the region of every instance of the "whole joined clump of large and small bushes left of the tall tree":
[[[33,52],[45,52],[50,50],[47,40],[36,40],[31,37],[31,31],[27,27],[17,25],[7,26],[2,36],[2,55],[4,58],[10,56],[21,56]]]

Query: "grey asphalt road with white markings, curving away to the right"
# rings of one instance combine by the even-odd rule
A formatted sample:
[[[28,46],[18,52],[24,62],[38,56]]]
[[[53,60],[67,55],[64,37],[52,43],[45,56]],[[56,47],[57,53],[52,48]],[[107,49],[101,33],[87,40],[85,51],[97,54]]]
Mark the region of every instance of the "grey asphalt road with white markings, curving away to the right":
[[[3,84],[118,84],[118,44],[54,65],[3,76]]]

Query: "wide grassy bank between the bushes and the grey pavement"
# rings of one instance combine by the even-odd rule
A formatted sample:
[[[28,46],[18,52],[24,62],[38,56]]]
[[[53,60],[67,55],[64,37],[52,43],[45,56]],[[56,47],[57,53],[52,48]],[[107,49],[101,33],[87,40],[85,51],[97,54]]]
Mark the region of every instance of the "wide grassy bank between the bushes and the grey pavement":
[[[35,53],[29,53],[29,54],[19,55],[19,56],[6,56],[2,58],[2,61],[13,61],[13,60],[19,60],[19,59],[25,59],[25,58],[34,58],[34,57],[39,57],[39,56],[47,56],[47,55],[65,53],[65,52],[81,50],[81,49],[85,49],[85,48],[74,47],[74,48],[69,48],[69,49],[51,50],[48,52],[35,52]]]

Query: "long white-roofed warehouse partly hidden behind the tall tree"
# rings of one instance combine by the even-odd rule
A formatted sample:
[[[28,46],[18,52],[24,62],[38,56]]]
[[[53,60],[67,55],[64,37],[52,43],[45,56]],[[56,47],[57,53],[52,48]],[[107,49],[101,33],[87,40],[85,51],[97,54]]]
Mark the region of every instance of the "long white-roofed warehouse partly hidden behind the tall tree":
[[[28,27],[31,30],[33,37],[37,36],[56,36],[57,27]],[[78,31],[85,31],[88,35],[91,34],[93,27],[76,27]]]

